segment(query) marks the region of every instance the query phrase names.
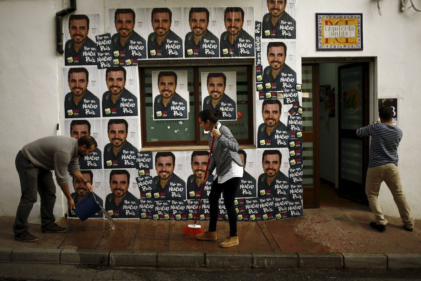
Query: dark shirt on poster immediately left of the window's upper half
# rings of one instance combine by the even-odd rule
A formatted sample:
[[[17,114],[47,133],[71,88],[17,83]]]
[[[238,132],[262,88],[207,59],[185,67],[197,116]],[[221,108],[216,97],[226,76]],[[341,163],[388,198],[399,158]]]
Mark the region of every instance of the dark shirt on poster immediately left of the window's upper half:
[[[137,98],[126,88],[116,99],[112,102],[110,91],[106,91],[102,95],[102,117],[115,116],[137,116]]]

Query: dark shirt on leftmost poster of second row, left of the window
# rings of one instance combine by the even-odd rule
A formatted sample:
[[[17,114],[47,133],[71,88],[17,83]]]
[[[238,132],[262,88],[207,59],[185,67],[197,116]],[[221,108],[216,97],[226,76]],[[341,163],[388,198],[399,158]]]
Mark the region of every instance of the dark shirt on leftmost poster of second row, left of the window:
[[[73,93],[69,92],[64,97],[65,118],[90,118],[101,117],[99,98],[86,90],[77,104],[73,100]]]

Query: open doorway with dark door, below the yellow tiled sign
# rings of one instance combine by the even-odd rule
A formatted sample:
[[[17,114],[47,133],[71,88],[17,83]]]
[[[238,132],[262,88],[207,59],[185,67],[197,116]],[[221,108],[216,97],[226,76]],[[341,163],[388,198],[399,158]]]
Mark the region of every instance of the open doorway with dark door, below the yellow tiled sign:
[[[369,142],[368,137],[357,137],[355,131],[368,125],[371,116],[374,59],[303,58],[302,61],[303,90],[311,88],[309,97],[303,98],[303,131],[313,137],[313,166],[311,171],[304,167],[303,180],[306,174],[311,176],[314,190],[304,193],[304,207],[366,205]],[[309,110],[310,105],[312,126],[306,127],[304,122],[309,116],[304,116],[304,107]],[[306,155],[303,156],[305,161]],[[308,190],[303,184],[304,191]]]

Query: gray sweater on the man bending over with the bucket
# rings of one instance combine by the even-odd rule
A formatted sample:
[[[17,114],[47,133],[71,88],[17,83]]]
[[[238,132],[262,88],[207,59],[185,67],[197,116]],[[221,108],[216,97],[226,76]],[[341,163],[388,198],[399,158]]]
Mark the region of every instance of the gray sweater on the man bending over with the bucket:
[[[73,176],[80,170],[77,139],[68,136],[46,136],[30,142],[21,151],[35,167],[54,170],[59,186],[69,184],[67,171]]]

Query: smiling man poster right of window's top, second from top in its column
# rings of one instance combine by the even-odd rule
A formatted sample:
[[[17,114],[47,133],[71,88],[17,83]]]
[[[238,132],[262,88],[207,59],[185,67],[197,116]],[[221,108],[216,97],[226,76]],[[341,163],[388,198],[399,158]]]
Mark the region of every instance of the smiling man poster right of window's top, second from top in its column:
[[[295,89],[297,83],[296,42],[263,40],[261,45],[263,89],[259,91]]]

